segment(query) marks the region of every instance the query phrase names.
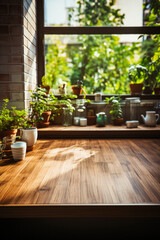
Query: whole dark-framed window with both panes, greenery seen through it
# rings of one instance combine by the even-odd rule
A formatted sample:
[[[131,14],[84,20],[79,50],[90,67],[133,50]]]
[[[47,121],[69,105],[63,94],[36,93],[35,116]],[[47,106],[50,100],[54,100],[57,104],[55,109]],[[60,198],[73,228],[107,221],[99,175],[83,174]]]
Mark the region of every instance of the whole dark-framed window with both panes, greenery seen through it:
[[[46,75],[55,94],[62,82],[71,91],[77,80],[83,80],[87,94],[129,94],[129,66],[160,56],[159,15],[150,1],[40,2],[39,83]],[[147,62],[145,54],[152,59]]]

